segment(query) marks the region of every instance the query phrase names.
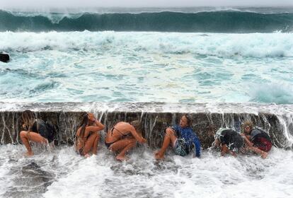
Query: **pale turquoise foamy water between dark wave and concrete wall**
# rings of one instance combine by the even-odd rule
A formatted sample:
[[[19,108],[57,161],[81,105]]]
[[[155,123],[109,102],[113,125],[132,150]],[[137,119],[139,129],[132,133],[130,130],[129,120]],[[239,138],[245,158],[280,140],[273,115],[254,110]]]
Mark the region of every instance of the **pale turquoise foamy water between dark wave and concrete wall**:
[[[2,32],[0,100],[293,101],[293,33]]]

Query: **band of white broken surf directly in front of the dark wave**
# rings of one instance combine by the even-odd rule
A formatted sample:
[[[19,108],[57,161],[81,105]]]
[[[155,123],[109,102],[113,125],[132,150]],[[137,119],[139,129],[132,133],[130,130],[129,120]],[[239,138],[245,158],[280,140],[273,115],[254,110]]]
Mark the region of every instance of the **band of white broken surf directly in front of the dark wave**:
[[[6,32],[0,33],[0,37],[0,52],[8,53],[46,50],[118,53],[126,50],[236,58],[293,57],[293,33]]]

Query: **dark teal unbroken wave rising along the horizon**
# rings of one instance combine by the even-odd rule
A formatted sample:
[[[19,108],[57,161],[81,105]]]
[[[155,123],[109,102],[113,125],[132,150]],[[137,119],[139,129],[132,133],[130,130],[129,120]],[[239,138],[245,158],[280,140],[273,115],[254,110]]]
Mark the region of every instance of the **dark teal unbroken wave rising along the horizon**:
[[[293,30],[293,13],[219,10],[183,13],[34,13],[0,10],[0,31],[158,31],[200,33],[284,33]]]

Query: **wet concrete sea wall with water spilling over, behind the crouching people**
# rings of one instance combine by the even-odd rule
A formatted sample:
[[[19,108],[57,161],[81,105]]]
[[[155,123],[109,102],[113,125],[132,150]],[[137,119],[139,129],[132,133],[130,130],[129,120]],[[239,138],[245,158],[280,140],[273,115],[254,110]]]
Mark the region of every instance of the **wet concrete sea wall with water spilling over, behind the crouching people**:
[[[255,103],[0,103],[0,142],[18,144],[21,112],[32,110],[37,117],[57,128],[57,144],[72,144],[83,112],[93,112],[105,124],[105,132],[118,121],[142,120],[144,136],[152,148],[161,146],[163,129],[178,123],[184,113],[193,115],[193,128],[207,148],[212,137],[209,124],[216,128],[240,130],[241,122],[252,120],[265,129],[275,146],[292,148],[293,105]],[[102,132],[102,141],[105,132]]]

